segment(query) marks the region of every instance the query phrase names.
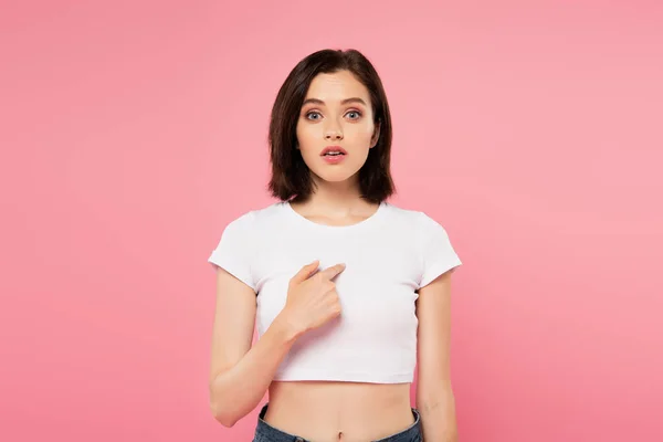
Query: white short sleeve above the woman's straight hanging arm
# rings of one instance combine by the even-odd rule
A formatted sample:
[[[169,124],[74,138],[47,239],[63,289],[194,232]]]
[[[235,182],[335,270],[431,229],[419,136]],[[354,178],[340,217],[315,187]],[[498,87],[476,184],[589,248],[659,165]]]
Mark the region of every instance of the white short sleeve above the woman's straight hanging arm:
[[[462,262],[451,245],[446,230],[424,212],[419,213],[421,278],[418,288],[421,288]]]

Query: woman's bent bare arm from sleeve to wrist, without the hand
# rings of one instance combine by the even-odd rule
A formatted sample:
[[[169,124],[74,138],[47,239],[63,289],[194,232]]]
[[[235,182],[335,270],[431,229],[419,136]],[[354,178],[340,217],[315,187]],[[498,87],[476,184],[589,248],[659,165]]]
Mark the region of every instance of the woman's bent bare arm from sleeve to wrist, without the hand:
[[[234,425],[259,404],[299,335],[277,316],[252,347],[255,308],[253,290],[218,267],[210,407],[224,427]]]

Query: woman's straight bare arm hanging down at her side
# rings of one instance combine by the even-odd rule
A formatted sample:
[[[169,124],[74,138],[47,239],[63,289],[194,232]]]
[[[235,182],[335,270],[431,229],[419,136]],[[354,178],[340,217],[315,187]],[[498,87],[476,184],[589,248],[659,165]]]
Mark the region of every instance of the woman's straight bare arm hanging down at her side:
[[[456,442],[455,400],[451,388],[451,274],[419,290],[417,408],[424,441]]]

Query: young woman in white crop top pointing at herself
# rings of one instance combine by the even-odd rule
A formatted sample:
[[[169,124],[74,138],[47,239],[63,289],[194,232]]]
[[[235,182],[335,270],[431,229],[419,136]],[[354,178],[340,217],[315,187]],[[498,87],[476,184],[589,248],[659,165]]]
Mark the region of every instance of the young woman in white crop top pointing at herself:
[[[229,223],[209,257],[210,403],[222,424],[269,390],[255,442],[456,440],[450,296],[461,261],[441,224],[386,202],[390,150],[387,97],[361,53],[323,50],[293,69],[270,124],[278,201]]]

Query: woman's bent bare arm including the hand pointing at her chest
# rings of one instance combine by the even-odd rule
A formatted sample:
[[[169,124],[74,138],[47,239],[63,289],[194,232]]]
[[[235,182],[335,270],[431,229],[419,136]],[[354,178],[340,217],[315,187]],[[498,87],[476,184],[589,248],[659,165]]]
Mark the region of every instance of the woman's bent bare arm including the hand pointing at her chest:
[[[285,306],[253,347],[255,293],[225,270],[217,270],[210,406],[223,425],[234,425],[257,406],[299,336],[340,314],[332,278],[345,264],[311,277],[317,267],[316,260],[291,277]]]

